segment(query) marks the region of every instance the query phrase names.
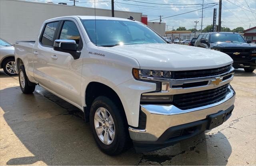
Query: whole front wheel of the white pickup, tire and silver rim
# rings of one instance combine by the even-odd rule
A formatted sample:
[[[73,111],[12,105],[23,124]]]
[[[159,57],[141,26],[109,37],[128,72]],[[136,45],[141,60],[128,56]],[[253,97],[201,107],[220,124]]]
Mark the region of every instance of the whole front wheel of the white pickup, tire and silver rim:
[[[90,109],[94,139],[104,153],[120,154],[128,148],[130,136],[123,109],[105,96],[97,97]]]

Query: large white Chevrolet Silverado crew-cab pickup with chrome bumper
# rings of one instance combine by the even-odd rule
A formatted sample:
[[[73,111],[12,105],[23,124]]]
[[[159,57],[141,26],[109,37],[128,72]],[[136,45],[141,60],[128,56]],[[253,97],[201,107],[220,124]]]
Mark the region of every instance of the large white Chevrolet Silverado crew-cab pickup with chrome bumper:
[[[22,92],[39,85],[78,107],[110,155],[130,143],[137,151],[175,144],[219,126],[234,109],[230,56],[168,44],[132,19],[53,18],[36,41],[14,47]]]

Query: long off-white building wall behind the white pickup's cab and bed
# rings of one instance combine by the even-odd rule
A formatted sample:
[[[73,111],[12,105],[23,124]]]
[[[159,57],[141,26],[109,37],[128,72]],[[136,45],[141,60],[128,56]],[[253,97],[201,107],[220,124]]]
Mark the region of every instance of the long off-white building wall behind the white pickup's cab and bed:
[[[45,20],[60,16],[90,15],[94,8],[67,6],[21,0],[0,0],[0,37],[14,43],[16,40],[36,40]],[[110,16],[111,10],[96,9],[96,16]],[[115,16],[141,21],[142,13],[116,11]],[[157,28],[157,27],[156,27]]]

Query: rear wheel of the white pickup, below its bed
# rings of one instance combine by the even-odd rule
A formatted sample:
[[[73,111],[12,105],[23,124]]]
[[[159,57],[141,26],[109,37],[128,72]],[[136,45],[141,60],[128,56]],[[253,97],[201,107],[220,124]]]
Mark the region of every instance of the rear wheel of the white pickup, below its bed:
[[[22,80],[21,80],[21,78],[22,78]],[[20,66],[20,69],[19,69],[19,82],[20,82],[20,89],[24,94],[31,94],[34,92],[36,86],[35,85],[29,86],[29,84],[28,84],[29,80],[28,80],[28,77],[27,77],[27,74],[25,72],[25,68],[23,65]],[[33,83],[31,83],[31,84],[33,84]]]

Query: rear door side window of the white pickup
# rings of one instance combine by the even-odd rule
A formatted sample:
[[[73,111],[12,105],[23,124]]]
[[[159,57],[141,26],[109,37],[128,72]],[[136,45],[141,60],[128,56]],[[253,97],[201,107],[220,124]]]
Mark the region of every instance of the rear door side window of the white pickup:
[[[54,35],[56,33],[58,23],[59,22],[50,22],[46,24],[44,28],[44,33],[40,41],[42,45],[50,47],[53,46]]]

